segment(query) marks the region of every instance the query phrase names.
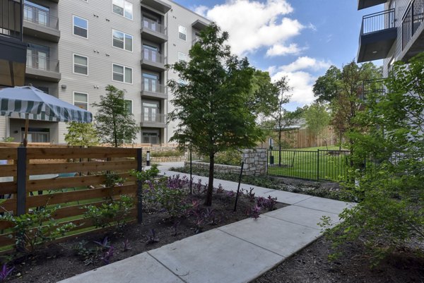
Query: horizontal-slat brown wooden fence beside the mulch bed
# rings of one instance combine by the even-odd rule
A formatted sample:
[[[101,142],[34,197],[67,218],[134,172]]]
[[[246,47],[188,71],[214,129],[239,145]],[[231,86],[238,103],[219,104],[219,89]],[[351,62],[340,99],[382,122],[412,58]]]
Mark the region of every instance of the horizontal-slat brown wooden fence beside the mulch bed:
[[[54,219],[76,224],[72,231],[76,236],[79,230],[95,229],[83,217],[83,205],[101,205],[107,198],[130,195],[136,197],[132,221],[141,222],[141,183],[129,175],[131,169],[141,170],[141,156],[141,148],[0,147],[0,159],[8,160],[0,165],[0,195],[7,198],[1,210],[22,215],[36,207],[60,205]],[[107,171],[124,177],[122,186],[105,187]],[[8,238],[10,227],[10,222],[0,222],[4,233],[0,248],[13,244]]]

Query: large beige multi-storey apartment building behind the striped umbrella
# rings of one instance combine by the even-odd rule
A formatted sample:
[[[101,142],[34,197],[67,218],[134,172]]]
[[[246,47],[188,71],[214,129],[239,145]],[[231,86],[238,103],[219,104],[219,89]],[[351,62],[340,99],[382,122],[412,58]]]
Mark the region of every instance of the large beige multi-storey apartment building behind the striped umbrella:
[[[93,114],[114,85],[141,127],[134,143],[167,143],[175,124],[166,123],[166,84],[177,74],[165,65],[188,60],[206,18],[168,0],[24,0],[22,15],[25,85]],[[0,138],[20,141],[24,121],[0,119]],[[30,121],[30,141],[64,143],[65,133],[64,123]]]

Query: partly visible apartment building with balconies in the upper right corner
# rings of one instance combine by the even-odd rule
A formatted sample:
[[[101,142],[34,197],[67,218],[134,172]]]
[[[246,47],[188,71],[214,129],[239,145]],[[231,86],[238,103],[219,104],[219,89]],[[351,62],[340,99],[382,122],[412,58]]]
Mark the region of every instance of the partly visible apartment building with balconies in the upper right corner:
[[[358,0],[358,10],[384,4],[363,17],[358,63],[384,59],[383,77],[395,61],[424,52],[424,0]]]

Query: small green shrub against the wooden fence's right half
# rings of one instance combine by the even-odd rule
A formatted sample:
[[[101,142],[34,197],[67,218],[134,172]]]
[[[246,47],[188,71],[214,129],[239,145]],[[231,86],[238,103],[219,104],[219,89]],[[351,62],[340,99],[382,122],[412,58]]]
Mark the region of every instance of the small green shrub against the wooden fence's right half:
[[[131,208],[134,207],[134,198],[121,195],[118,200],[110,200],[100,206],[86,205],[84,217],[93,220],[96,228],[124,227],[128,220]]]

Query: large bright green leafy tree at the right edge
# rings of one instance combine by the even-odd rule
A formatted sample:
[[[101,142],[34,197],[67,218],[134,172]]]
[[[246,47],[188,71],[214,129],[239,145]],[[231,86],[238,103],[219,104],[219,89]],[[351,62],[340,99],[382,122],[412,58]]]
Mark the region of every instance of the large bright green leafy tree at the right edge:
[[[424,239],[424,54],[408,65],[396,62],[384,84],[387,92],[365,97],[355,120],[360,127],[350,136],[360,184],[351,191],[360,203],[330,230],[336,247],[364,241],[372,264]],[[372,174],[364,174],[364,159],[374,162]]]

